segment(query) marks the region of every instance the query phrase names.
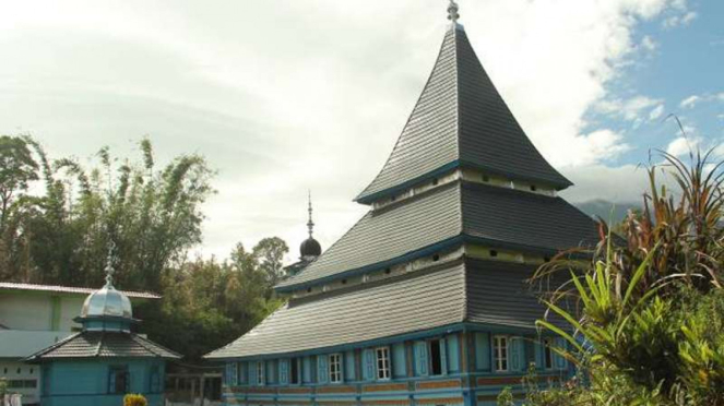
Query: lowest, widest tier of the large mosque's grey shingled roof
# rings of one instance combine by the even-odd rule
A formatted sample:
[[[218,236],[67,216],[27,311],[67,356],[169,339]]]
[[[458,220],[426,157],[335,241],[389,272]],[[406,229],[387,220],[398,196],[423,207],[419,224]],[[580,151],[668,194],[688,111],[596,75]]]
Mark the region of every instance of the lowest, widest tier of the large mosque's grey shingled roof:
[[[535,268],[458,260],[321,297],[294,299],[206,358],[341,347],[463,322],[533,330],[545,312],[525,282]]]

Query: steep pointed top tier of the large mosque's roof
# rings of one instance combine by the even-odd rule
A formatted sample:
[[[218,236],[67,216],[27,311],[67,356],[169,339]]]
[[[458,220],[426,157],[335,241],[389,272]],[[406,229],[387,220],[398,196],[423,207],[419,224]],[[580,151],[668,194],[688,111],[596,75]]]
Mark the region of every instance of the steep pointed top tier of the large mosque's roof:
[[[356,200],[370,203],[449,165],[558,189],[572,184],[525,135],[460,25],[446,34],[432,73],[392,154]]]

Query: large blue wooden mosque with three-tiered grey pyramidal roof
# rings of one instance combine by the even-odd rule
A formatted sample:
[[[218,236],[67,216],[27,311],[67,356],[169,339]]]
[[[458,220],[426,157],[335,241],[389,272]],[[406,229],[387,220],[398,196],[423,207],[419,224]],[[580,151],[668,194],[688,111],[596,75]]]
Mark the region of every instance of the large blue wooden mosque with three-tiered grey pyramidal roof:
[[[488,406],[570,373],[526,280],[598,241],[496,89],[458,5],[369,212],[275,289],[288,302],[206,357],[234,405]],[[535,67],[531,67],[535,69]],[[553,283],[551,283],[553,285]],[[559,320],[554,323],[565,325]]]

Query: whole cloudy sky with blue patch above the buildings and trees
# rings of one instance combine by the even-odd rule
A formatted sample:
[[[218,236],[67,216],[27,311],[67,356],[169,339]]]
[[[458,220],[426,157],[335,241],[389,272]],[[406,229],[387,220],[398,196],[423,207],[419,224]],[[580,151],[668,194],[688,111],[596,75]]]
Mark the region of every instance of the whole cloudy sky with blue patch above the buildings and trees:
[[[429,75],[448,0],[24,0],[0,13],[0,133],[218,170],[197,252],[333,243]],[[461,23],[571,202],[639,201],[650,148],[724,139],[721,0],[460,0]],[[692,98],[693,97],[693,98]],[[684,103],[688,100],[687,103]],[[724,157],[724,148],[719,157]]]

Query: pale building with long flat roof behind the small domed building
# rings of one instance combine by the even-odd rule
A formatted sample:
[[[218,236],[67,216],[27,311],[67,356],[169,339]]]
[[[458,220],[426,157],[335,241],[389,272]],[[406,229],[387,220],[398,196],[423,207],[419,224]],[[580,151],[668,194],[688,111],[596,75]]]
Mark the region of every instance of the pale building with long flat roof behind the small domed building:
[[[23,395],[23,405],[40,403],[40,372],[23,359],[76,332],[82,325],[73,319],[85,298],[96,289],[0,283],[0,378],[11,392]],[[134,303],[159,296],[123,291]]]

